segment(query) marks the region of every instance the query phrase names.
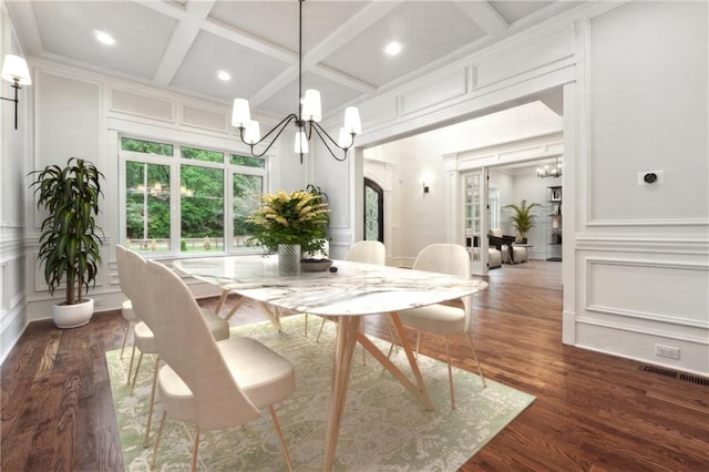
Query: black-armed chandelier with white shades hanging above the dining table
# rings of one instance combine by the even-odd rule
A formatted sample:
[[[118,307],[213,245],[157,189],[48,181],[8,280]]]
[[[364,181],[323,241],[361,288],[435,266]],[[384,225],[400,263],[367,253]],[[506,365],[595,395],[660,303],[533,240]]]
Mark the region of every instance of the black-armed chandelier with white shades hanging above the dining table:
[[[347,151],[354,144],[354,136],[362,132],[362,125],[359,120],[359,110],[356,106],[348,106],[345,110],[345,126],[340,129],[338,141],[318,124],[322,119],[320,111],[320,92],[317,90],[306,90],[302,94],[302,2],[298,0],[298,114],[291,113],[274,126],[268,133],[260,137],[260,129],[257,121],[251,120],[248,100],[235,99],[234,109],[232,111],[232,126],[239,129],[239,137],[244,144],[250,147],[251,155],[261,157],[278,140],[284,130],[290,122],[296,124],[298,132],[296,133],[294,152],[300,154],[300,163],[302,155],[308,153],[308,141],[312,136],[312,131],[320,136],[322,144],[330,152],[332,157],[338,161],[347,158]],[[273,137],[271,137],[273,135]],[[264,141],[270,138],[270,142],[260,153],[254,152],[254,147]],[[343,151],[343,156],[338,157],[330,145]]]

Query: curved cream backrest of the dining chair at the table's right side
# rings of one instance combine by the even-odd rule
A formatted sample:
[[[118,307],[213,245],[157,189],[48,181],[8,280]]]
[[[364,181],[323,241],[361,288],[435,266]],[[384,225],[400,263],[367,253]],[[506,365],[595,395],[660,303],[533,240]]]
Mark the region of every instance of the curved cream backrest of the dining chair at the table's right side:
[[[412,268],[470,278],[470,253],[458,244],[432,244],[421,249]],[[471,298],[461,298],[465,310],[465,327],[470,324]]]

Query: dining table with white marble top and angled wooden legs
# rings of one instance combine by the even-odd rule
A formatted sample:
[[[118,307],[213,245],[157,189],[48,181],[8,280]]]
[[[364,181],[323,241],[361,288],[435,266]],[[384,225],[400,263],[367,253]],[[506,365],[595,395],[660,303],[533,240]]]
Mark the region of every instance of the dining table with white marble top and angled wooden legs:
[[[185,258],[173,263],[184,275],[214,284],[222,289],[218,308],[229,294],[240,304],[255,300],[271,322],[280,329],[279,315],[285,310],[319,315],[337,319],[332,384],[328,403],[323,470],[331,471],[343,413],[352,355],[359,342],[427,410],[433,410],[431,399],[407,339],[399,312],[433,304],[458,300],[487,287],[480,279],[414,270],[401,267],[333,260],[323,271],[279,274],[276,256],[225,256]],[[404,373],[361,331],[362,317],[387,314],[405,352],[411,372]],[[409,378],[413,376],[413,380]]]

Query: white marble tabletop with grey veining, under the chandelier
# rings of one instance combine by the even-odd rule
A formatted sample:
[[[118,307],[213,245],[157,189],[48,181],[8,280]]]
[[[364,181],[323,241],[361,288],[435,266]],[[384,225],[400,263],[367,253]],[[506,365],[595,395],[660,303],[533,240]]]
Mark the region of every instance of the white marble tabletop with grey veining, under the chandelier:
[[[471,278],[345,260],[335,260],[336,273],[281,276],[276,256],[181,259],[174,267],[254,300],[328,316],[401,311],[453,300],[487,287]]]

